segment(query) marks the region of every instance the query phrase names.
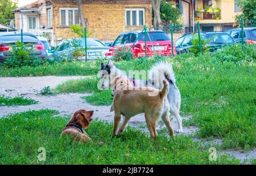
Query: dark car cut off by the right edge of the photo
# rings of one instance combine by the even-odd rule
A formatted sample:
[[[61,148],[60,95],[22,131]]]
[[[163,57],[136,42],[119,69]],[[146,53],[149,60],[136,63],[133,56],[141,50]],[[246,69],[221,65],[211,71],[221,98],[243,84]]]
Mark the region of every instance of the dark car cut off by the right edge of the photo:
[[[229,29],[228,32],[230,36],[236,40],[236,42],[242,42],[242,32],[241,28]],[[256,27],[253,28],[243,28],[243,38],[248,44],[256,44]]]

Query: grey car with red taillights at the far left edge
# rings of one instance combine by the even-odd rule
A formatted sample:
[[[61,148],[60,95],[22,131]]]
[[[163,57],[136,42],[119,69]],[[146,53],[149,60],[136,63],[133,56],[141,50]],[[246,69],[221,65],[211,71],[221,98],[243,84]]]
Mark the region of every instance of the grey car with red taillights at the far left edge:
[[[5,61],[11,55],[12,47],[16,47],[16,41],[21,41],[20,32],[0,32],[0,62]],[[23,33],[23,44],[33,49],[33,54],[39,58],[46,58],[47,52],[44,44],[31,33]]]

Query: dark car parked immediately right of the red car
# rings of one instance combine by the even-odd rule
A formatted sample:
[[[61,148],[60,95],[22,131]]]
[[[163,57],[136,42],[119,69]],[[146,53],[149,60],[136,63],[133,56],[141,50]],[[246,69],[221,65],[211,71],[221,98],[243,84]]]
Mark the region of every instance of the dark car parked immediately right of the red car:
[[[209,40],[208,46],[210,46],[210,52],[216,51],[224,45],[232,45],[236,43],[234,38],[226,32],[207,32],[200,33],[200,36],[204,40]],[[192,45],[192,33],[185,34],[175,41],[177,53],[185,53],[189,51]]]

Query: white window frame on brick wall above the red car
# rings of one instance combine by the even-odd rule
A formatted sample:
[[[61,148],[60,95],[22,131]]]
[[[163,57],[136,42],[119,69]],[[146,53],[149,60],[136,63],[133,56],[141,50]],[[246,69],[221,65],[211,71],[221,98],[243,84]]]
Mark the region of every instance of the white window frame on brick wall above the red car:
[[[130,25],[127,25],[127,11],[130,11]],[[136,25],[133,25],[133,11],[136,11]],[[125,26],[142,26],[139,24],[139,11],[143,11],[143,24],[146,24],[145,8],[125,8]]]

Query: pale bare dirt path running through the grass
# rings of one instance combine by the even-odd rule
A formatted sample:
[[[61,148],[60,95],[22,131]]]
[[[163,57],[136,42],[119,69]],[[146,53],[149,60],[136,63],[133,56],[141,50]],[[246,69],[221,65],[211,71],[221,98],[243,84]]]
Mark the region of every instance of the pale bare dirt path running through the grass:
[[[69,79],[79,79],[81,76],[42,76],[42,77],[20,77],[20,78],[0,78],[0,95],[30,97],[39,101],[38,104],[28,106],[0,106],[0,118],[10,113],[20,113],[27,110],[54,109],[60,111],[60,115],[71,115],[77,109],[94,110],[94,117],[113,122],[114,113],[110,113],[110,106],[93,106],[86,103],[81,97],[90,95],[89,93],[68,93],[56,96],[38,95],[43,87],[49,86],[55,88],[58,84]],[[186,119],[186,117],[183,117]],[[146,129],[143,114],[136,115],[131,118],[130,126]],[[177,121],[172,121],[174,129],[177,128]],[[197,127],[184,127],[184,135],[192,134]],[[240,160],[245,160],[246,155],[255,158],[256,151],[238,152],[238,151],[222,151],[232,154]]]

